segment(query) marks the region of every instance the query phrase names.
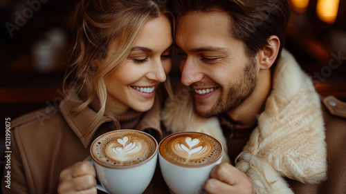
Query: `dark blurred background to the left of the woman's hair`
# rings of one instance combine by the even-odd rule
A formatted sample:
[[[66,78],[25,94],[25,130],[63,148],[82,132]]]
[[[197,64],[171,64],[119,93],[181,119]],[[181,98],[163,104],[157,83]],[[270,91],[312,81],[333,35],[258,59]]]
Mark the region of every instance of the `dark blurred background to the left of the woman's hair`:
[[[70,17],[78,0],[0,0],[1,118],[62,97]]]

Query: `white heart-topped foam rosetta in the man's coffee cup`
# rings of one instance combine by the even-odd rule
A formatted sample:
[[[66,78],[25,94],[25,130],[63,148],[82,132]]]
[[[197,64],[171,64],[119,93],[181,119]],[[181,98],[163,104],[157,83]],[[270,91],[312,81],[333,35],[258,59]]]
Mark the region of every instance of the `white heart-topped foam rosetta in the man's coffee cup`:
[[[190,162],[193,159],[208,157],[211,151],[210,145],[201,145],[200,143],[200,139],[186,137],[183,143],[175,142],[173,151],[177,156],[185,158],[184,163]]]

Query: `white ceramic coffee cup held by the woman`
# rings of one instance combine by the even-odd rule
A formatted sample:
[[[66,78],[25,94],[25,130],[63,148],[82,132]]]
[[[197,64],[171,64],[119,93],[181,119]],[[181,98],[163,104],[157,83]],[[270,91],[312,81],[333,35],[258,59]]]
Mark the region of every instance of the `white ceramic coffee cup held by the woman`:
[[[119,133],[121,133],[120,136]],[[149,139],[149,141],[152,141],[152,145],[154,145],[149,155],[145,156],[146,159],[141,162],[123,166],[112,166],[111,164],[104,164],[104,162],[100,162],[97,155],[93,154],[93,146],[98,144],[100,145],[100,139],[104,137],[109,137],[110,139],[115,138],[117,140],[116,142],[121,143],[120,146],[118,143],[114,145],[111,150],[120,151],[122,154],[126,154],[127,151],[131,150],[133,153],[133,151],[136,151],[136,149],[140,147],[138,146],[138,142],[137,144],[134,144],[136,140],[134,140],[133,136],[136,134],[138,134],[139,137],[142,136]],[[104,141],[102,144],[107,144],[107,142]],[[142,148],[143,147],[144,146],[142,145]],[[105,188],[107,193],[111,194],[143,193],[154,175],[158,155],[157,153],[158,143],[154,137],[138,130],[114,130],[101,135],[94,140],[93,144],[91,144],[91,158],[96,169],[98,180]],[[100,188],[100,186],[98,186],[98,188]],[[104,191],[102,187],[100,190]]]

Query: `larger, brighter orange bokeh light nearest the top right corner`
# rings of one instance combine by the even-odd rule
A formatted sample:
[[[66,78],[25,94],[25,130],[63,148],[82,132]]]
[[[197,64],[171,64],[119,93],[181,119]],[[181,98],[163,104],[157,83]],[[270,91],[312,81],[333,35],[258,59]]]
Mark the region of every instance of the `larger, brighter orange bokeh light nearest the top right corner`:
[[[318,0],[316,14],[318,19],[325,23],[332,24],[338,15],[340,0]]]

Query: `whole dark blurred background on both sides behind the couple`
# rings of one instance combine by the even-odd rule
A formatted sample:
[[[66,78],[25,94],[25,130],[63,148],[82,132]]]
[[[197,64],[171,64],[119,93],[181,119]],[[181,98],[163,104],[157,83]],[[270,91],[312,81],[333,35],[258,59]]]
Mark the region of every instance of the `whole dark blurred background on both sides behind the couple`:
[[[0,0],[1,119],[57,106],[62,99],[62,79],[73,42],[70,16],[76,3]],[[346,101],[346,1],[290,3],[286,48],[311,76],[321,95]],[[172,76],[178,75],[179,70],[174,68]]]

